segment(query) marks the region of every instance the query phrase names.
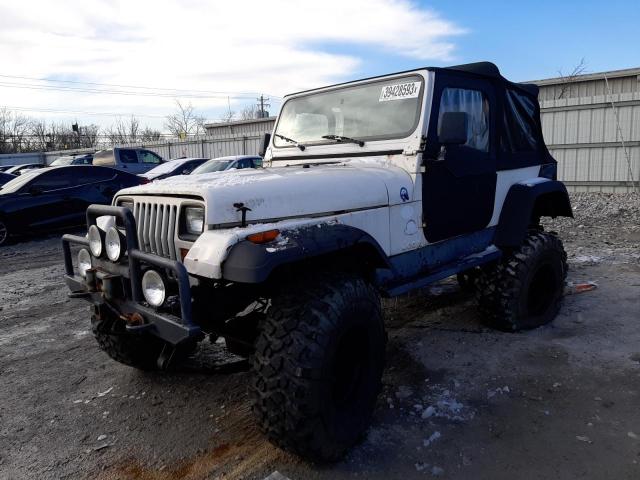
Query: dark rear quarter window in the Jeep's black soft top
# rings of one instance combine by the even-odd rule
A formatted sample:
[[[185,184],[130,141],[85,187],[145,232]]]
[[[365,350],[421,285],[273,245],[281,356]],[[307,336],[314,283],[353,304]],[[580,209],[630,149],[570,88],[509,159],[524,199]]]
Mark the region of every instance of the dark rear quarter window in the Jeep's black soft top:
[[[500,149],[505,152],[538,150],[538,120],[536,105],[526,95],[507,89],[504,98]]]

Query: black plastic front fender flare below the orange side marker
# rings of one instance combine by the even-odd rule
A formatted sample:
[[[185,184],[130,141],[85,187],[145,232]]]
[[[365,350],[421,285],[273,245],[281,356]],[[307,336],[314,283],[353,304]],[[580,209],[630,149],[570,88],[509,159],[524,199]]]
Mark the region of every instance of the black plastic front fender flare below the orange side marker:
[[[369,249],[376,266],[390,267],[384,251],[368,233],[348,225],[317,224],[283,231],[267,244],[238,242],[222,265],[222,277],[233,282],[260,283],[282,265],[357,246]]]

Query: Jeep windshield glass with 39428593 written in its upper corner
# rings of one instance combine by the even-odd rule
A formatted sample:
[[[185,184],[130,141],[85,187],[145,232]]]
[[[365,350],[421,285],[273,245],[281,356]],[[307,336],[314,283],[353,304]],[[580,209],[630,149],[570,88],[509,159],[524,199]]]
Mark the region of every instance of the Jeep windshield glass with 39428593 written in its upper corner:
[[[357,140],[403,138],[416,128],[423,91],[417,75],[379,80],[292,98],[282,107],[276,147],[333,143],[325,135]],[[281,135],[281,136],[278,136]]]

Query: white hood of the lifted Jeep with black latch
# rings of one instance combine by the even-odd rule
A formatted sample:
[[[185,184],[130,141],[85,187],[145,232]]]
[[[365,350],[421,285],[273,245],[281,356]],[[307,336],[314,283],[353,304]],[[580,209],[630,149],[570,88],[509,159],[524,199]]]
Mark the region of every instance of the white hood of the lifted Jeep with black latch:
[[[171,177],[122,190],[118,197],[201,197],[206,223],[221,225],[240,222],[234,203],[251,209],[248,222],[305,217],[400,203],[397,192],[403,188],[413,198],[412,183],[406,171],[375,163],[292,166]]]

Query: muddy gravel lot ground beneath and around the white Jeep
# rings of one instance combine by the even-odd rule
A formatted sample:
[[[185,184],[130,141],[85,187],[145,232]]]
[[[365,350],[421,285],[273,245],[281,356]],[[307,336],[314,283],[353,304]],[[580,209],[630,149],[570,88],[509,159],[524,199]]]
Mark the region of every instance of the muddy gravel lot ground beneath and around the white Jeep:
[[[170,374],[107,358],[66,298],[57,237],[2,249],[0,478],[640,478],[640,198],[573,201],[551,228],[571,284],[597,289],[523,334],[484,328],[452,282],[386,302],[384,393],[332,466],[260,436],[250,372],[218,345]]]

